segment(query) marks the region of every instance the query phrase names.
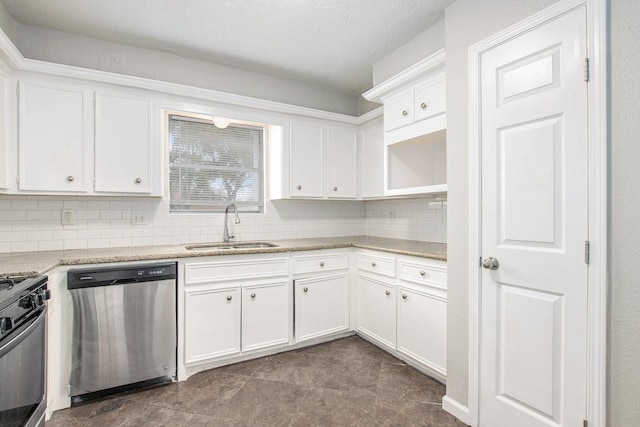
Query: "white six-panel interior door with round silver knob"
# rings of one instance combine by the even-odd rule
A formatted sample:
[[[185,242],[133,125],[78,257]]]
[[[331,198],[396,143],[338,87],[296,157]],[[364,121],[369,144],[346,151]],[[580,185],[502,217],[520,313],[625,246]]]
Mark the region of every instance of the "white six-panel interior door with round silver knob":
[[[585,418],[585,57],[585,7],[480,57],[482,426]]]

